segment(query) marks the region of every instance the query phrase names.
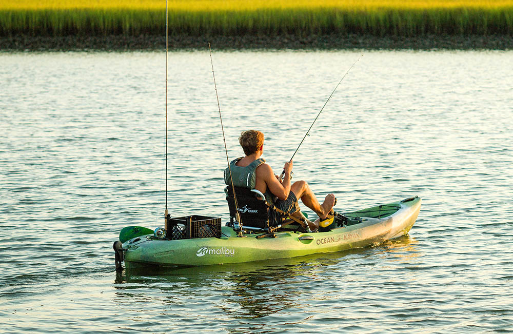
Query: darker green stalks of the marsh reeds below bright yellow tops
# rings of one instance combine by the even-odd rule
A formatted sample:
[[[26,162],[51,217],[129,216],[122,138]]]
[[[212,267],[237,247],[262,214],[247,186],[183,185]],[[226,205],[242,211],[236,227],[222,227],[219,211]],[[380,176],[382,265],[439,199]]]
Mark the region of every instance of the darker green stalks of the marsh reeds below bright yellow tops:
[[[163,34],[165,13],[156,9],[0,9],[0,34]],[[423,34],[513,35],[513,7],[383,8],[343,10],[259,9],[172,11],[169,33],[202,35]]]

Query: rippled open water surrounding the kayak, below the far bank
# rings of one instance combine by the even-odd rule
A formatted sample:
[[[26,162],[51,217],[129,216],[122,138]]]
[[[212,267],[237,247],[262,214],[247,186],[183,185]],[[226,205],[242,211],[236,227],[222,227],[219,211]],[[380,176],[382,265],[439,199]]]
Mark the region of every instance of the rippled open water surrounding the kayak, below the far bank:
[[[229,156],[259,129],[280,171],[359,56],[214,52]],[[419,195],[406,237],[116,276],[120,229],[163,225],[164,53],[0,54],[2,330],[513,331],[512,61],[365,52],[295,156],[295,180],[341,211]],[[172,215],[226,221],[217,108],[208,52],[170,53]]]

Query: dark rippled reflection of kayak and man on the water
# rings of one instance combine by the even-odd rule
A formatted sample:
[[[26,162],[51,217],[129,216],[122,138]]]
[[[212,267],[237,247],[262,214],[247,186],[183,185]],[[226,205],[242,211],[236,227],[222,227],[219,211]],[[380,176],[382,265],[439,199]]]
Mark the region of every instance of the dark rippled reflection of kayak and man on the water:
[[[131,269],[117,274],[114,287],[120,303],[126,299],[133,302],[137,298],[183,304],[184,299],[205,301],[209,298],[206,291],[210,291],[208,294],[217,298],[215,307],[225,316],[254,319],[301,307],[304,298],[315,298],[308,291],[317,289],[333,271],[340,271],[345,261],[397,257],[396,261],[411,262],[419,254],[415,240],[406,235],[377,247],[301,258],[204,267]]]

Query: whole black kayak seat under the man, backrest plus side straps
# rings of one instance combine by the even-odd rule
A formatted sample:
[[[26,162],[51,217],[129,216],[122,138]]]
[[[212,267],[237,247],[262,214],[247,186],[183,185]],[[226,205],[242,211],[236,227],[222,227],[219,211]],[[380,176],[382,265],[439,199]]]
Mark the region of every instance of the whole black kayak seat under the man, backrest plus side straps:
[[[226,201],[230,209],[230,222],[235,220],[235,200],[231,186],[225,188]],[[308,225],[300,213],[286,214],[285,212],[269,205],[265,196],[257,189],[235,187],[237,210],[241,217],[243,226],[268,229],[269,227],[280,227],[290,223],[299,223],[308,228]]]

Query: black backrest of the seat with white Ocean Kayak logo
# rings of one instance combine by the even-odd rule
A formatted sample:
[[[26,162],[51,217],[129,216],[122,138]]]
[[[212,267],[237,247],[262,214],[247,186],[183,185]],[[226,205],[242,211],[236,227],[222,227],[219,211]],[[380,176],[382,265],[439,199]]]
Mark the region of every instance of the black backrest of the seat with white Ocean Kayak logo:
[[[230,218],[235,219],[235,200],[231,186],[225,188],[226,201],[230,209]],[[259,199],[259,195],[250,189],[235,187],[237,197],[237,210],[243,226],[267,228],[269,227],[269,207],[265,200]]]

